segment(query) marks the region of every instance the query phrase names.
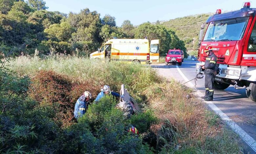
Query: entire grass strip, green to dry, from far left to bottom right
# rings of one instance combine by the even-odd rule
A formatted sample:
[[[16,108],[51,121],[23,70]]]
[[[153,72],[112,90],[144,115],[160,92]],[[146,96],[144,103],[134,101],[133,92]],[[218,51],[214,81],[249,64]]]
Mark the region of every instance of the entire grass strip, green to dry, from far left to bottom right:
[[[153,110],[163,124],[157,130],[161,153],[241,153],[239,137],[226,130],[218,116],[206,111],[191,94],[192,89],[177,87],[180,83],[175,80],[164,82],[150,66],[57,55],[21,56],[9,64],[18,75],[33,77],[38,70],[52,70],[65,74],[72,82],[90,81],[97,87],[107,84],[119,90],[125,84],[137,99],[149,99],[142,107]],[[177,88],[165,92],[173,87]],[[140,119],[137,121],[140,123]]]

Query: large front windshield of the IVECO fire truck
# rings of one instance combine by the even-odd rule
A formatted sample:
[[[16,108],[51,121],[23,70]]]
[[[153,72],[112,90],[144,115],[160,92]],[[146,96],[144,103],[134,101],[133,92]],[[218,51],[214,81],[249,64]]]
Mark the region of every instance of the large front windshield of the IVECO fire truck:
[[[248,17],[210,22],[203,41],[234,41],[244,36]]]

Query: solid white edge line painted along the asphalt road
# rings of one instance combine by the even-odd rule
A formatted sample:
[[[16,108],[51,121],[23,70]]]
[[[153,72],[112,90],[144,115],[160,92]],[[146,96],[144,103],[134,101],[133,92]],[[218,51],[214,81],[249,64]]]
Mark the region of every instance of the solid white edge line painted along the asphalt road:
[[[181,69],[176,65],[176,68],[178,69],[178,72],[181,74],[182,78],[187,82],[189,81],[187,77],[181,72]],[[191,82],[188,82],[190,87],[194,87],[194,85]],[[197,95],[203,96],[200,91],[197,91]],[[256,141],[250,137],[240,126],[238,126],[234,121],[229,119],[229,117],[222,112],[221,109],[219,109],[216,105],[213,104],[213,102],[206,102],[204,101],[208,106],[211,107],[212,110],[214,110],[215,113],[217,113],[222,120],[226,122],[227,125],[229,125],[255,152],[256,152]]]

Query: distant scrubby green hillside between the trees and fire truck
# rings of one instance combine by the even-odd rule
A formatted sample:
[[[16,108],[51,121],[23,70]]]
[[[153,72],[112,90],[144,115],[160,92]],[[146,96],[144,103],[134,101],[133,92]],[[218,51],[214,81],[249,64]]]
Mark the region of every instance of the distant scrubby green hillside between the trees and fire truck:
[[[187,50],[198,50],[198,37],[201,25],[213,13],[185,16],[163,22],[162,25],[175,31],[176,35],[185,43]]]

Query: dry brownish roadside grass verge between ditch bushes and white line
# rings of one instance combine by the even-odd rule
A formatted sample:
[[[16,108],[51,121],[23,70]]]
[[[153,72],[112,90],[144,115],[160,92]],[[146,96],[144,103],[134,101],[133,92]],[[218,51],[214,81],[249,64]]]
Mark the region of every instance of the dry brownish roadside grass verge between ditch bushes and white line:
[[[208,111],[202,101],[191,95],[192,89],[181,86],[164,93],[178,85],[172,80],[144,91],[152,98],[148,105],[161,121],[170,123],[174,130],[170,132],[176,140],[169,144],[171,150],[168,152],[181,152],[188,148],[190,152],[196,150],[195,153],[241,153],[239,137],[226,130],[219,116]]]

